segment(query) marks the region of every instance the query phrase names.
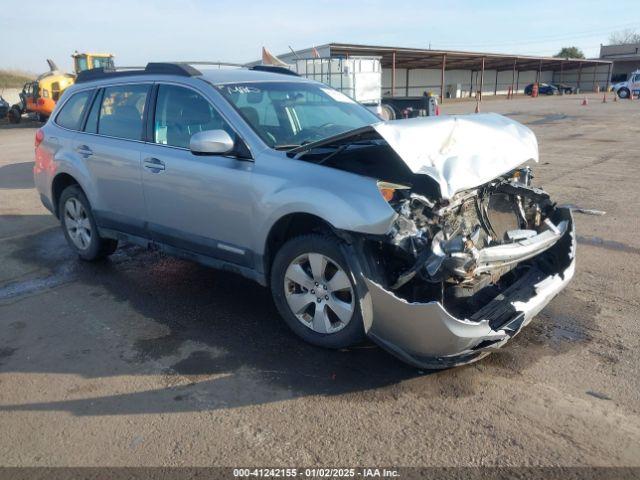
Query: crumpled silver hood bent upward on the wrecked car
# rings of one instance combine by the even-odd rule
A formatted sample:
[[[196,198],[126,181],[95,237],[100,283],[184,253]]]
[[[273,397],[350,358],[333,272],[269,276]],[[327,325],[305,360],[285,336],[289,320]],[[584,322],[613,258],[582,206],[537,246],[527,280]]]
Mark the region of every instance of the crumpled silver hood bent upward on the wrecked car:
[[[534,133],[497,113],[390,120],[373,128],[413,173],[438,182],[443,198],[538,161]]]

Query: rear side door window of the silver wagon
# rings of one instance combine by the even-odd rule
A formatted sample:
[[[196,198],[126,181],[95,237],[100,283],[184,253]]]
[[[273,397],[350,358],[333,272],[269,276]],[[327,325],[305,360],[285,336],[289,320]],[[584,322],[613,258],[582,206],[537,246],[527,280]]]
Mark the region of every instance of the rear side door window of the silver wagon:
[[[118,85],[107,87],[102,94],[97,133],[109,137],[142,140],[144,106],[150,85]],[[93,113],[93,112],[92,112]]]

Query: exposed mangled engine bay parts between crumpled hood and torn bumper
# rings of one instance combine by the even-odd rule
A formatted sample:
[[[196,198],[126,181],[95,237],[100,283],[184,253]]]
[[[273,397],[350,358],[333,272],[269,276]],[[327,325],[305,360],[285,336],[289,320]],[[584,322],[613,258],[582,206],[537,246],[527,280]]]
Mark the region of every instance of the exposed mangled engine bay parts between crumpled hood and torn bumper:
[[[515,278],[510,272],[526,269],[522,262],[567,229],[550,218],[554,204],[531,180],[522,168],[440,201],[395,190],[389,203],[398,216],[377,256],[385,288],[408,301],[441,301],[460,315],[494,298]]]

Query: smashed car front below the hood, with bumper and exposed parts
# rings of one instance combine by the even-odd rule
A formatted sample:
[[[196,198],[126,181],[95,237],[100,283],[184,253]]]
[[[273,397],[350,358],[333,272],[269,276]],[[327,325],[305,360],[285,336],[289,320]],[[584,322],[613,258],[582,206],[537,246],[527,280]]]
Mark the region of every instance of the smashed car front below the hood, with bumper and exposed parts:
[[[517,334],[574,272],[568,209],[514,170],[449,199],[395,186],[383,238],[360,238],[367,334],[422,368],[468,363]]]

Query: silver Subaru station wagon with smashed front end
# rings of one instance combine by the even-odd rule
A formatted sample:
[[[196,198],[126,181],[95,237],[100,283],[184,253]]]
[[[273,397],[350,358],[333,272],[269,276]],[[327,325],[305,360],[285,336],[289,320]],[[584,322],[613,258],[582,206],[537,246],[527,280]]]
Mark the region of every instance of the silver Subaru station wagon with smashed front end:
[[[571,212],[532,186],[536,138],[496,114],[383,122],[286,70],[151,63],[81,73],[35,155],[81,259],[127,241],[237,272],[323,347],[468,363],[574,273]]]

